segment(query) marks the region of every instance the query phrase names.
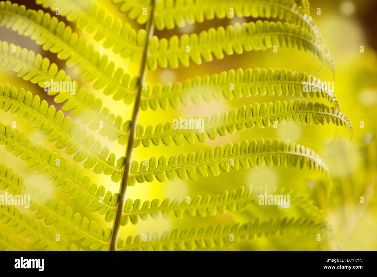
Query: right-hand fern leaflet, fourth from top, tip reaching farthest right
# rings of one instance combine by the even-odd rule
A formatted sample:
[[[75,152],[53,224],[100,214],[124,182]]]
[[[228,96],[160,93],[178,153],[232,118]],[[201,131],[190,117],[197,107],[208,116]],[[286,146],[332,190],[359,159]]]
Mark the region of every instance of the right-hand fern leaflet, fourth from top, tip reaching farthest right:
[[[177,119],[178,120],[178,119]],[[188,122],[192,119],[187,118]],[[217,135],[225,136],[227,133],[234,134],[236,131],[242,132],[246,129],[270,127],[274,122],[278,124],[296,123],[302,125],[312,124],[334,124],[345,126],[352,133],[351,121],[339,108],[329,107],[323,103],[307,103],[305,100],[296,99],[296,101],[276,101],[275,103],[263,103],[242,106],[238,111],[231,110],[229,113],[224,112],[221,115],[215,113],[209,118],[205,116],[194,116],[196,122],[204,122],[202,130],[174,129],[174,124],[168,122],[165,125],[158,124],[153,132],[153,125],[149,125],[145,132],[144,127],[138,124],[136,129],[136,138],[134,147],[143,144],[144,147],[164,144],[172,146],[173,142],[178,145],[184,145],[184,141],[189,144],[195,143],[195,136],[198,141],[204,143],[208,138],[217,139]],[[187,128],[189,128],[187,126]],[[183,127],[182,127],[183,129]],[[207,136],[205,135],[207,134]]]

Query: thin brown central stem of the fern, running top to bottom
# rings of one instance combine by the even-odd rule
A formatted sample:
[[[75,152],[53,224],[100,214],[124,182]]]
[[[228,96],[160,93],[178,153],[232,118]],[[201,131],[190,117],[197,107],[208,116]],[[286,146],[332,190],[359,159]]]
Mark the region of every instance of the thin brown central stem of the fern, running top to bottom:
[[[123,173],[122,173],[121,186],[119,189],[120,199],[119,199],[118,206],[116,207],[115,219],[114,219],[114,224],[113,224],[113,232],[112,232],[111,242],[110,242],[110,251],[116,250],[116,243],[118,241],[120,221],[122,219],[123,207],[126,200],[127,184],[129,180],[129,171],[130,171],[131,162],[132,162],[133,143],[135,141],[136,126],[138,123],[140,103],[141,103],[141,93],[142,93],[143,83],[144,83],[146,71],[147,71],[148,46],[149,46],[149,41],[151,40],[153,36],[153,30],[154,30],[154,25],[153,25],[154,13],[155,13],[155,0],[152,1],[152,9],[150,10],[150,17],[148,19],[147,26],[146,26],[148,37],[146,37],[146,43],[143,49],[143,60],[141,61],[140,69],[139,69],[139,87],[138,87],[138,92],[135,96],[135,104],[133,105],[130,135],[129,135],[129,140],[127,143],[126,154],[125,154],[126,159],[125,159],[125,164],[124,164]]]

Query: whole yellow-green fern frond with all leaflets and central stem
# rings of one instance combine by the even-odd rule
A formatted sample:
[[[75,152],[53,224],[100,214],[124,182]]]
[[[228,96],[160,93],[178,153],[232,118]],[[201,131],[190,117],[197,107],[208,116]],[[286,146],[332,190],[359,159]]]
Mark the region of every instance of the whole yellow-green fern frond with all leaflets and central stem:
[[[0,165],[0,189],[9,194],[30,195],[28,207],[32,214],[21,213],[16,205],[0,205],[0,219],[13,228],[13,234],[29,238],[32,249],[44,250],[184,250],[221,248],[240,240],[255,237],[287,236],[289,234],[316,236],[331,240],[334,231],[323,212],[299,192],[289,191],[291,206],[300,213],[286,216],[276,211],[252,216],[258,208],[258,196],[282,194],[282,188],[257,188],[240,184],[233,191],[223,191],[213,196],[182,195],[166,198],[132,200],[126,198],[129,186],[144,182],[172,182],[198,180],[205,185],[208,175],[221,176],[223,172],[252,170],[262,166],[282,166],[319,170],[328,178],[328,168],[319,155],[310,148],[278,138],[245,138],[239,142],[200,148],[196,152],[177,153],[169,157],[145,157],[136,161],[136,147],[176,147],[187,144],[208,143],[219,136],[226,136],[252,128],[267,128],[274,124],[296,123],[301,125],[334,124],[345,126],[352,132],[352,125],[340,110],[334,92],[328,86],[306,72],[287,69],[230,68],[227,72],[192,76],[184,82],[151,84],[146,72],[158,67],[177,69],[192,64],[202,64],[226,55],[247,51],[267,51],[273,47],[288,47],[311,52],[323,67],[335,74],[333,57],[320,37],[316,23],[310,16],[307,1],[293,0],[112,0],[119,11],[145,29],[135,30],[133,25],[111,15],[94,0],[36,0],[43,8],[50,8],[69,22],[76,22],[78,32],[66,26],[57,17],[43,10],[27,9],[23,5],[0,2],[0,26],[19,35],[31,38],[44,51],[57,54],[65,60],[73,73],[82,75],[82,81],[92,83],[92,88],[80,87],[48,58],[35,54],[21,46],[0,41],[0,67],[15,72],[23,80],[38,84],[55,103],[50,105],[37,94],[13,87],[2,78],[0,83],[0,107],[25,122],[54,142],[56,151],[36,143],[31,135],[9,124],[0,123],[0,143],[5,150],[25,161],[35,173],[43,174],[52,185],[68,194],[72,206],[87,207],[104,217],[106,223],[82,216],[58,197],[42,192],[31,182],[19,176],[4,162]],[[113,5],[108,3],[108,5]],[[249,23],[210,28],[199,34],[173,35],[170,39],[153,35],[154,29],[182,28],[186,24],[201,23],[214,18],[256,18]],[[259,19],[260,18],[260,19]],[[116,60],[95,49],[80,35],[84,30],[105,49],[111,49]],[[118,66],[119,60],[139,63],[137,76]],[[73,83],[72,91],[46,90],[46,82]],[[80,82],[79,82],[80,83]],[[305,89],[307,83],[314,88]],[[52,83],[53,84],[53,83]],[[123,101],[132,110],[130,118],[112,113],[103,106],[102,90],[113,101]],[[43,90],[42,90],[43,91]],[[274,102],[255,103],[254,96],[276,96]],[[42,97],[44,98],[44,97]],[[138,122],[139,114],[149,110],[178,110],[181,107],[203,102],[216,105],[218,101],[244,99],[238,109],[216,112],[211,116],[192,115],[203,122],[202,129],[175,128],[174,122]],[[67,116],[67,113],[70,113]],[[2,118],[7,116],[2,113]],[[100,123],[101,122],[101,123]],[[124,145],[125,154],[115,153],[100,141],[117,141]],[[110,145],[110,144],[106,144]],[[58,150],[64,149],[65,158]],[[154,149],[153,147],[151,149]],[[177,148],[178,149],[178,148]],[[135,150],[136,151],[136,150]],[[178,151],[178,150],[177,150]],[[147,152],[151,153],[151,152]],[[152,153],[151,153],[152,154]],[[70,162],[73,160],[73,162]],[[83,162],[81,164],[73,164]],[[83,167],[83,168],[80,168]],[[97,185],[85,170],[105,174],[120,185],[119,193],[112,193],[106,184]],[[88,173],[89,174],[89,173]],[[130,188],[132,189],[132,188]],[[145,187],[147,190],[147,187]],[[189,200],[187,200],[189,199]],[[220,213],[241,213],[251,221],[234,222],[223,226],[205,225],[187,230],[164,233],[146,233],[137,236],[118,237],[123,226],[137,224],[139,219],[151,220],[215,216]],[[59,234],[63,237],[56,240]],[[233,239],[230,239],[233,237]],[[0,249],[26,250],[22,240],[18,242],[5,231],[0,233]]]

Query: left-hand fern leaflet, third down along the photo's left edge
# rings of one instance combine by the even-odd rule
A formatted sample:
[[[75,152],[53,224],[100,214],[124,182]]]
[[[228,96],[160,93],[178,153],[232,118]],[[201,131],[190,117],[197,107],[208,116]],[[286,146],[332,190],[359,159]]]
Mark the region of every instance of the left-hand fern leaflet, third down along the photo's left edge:
[[[15,87],[4,87],[0,83],[0,109],[15,113],[25,121],[31,122],[41,134],[47,135],[48,141],[58,139],[55,147],[60,149],[68,146],[66,154],[75,154],[75,162],[86,159],[84,167],[94,167],[94,173],[110,175],[112,171],[121,171],[113,165],[116,158],[114,153],[109,155],[109,148],[102,148],[93,135],[87,136],[86,131],[80,129],[78,122],[72,124],[69,117],[64,118],[61,110],[55,113],[55,107],[48,106],[46,101],[41,102],[38,95],[33,97],[31,92],[25,92],[24,89],[17,91]]]

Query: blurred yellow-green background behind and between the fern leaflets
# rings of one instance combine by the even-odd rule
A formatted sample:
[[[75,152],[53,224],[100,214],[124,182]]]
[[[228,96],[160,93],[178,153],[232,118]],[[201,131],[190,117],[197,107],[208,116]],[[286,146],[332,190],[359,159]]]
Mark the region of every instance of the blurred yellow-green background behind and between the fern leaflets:
[[[12,1],[26,5],[31,9],[43,9],[39,5],[35,5],[34,1]],[[124,22],[132,24],[134,29],[145,28],[140,26],[133,20],[129,20],[126,14],[118,11],[119,6],[111,3],[110,0],[97,0],[101,7],[105,8],[109,13],[121,18]],[[320,8],[321,14],[317,15],[317,8]],[[44,9],[55,16],[55,12]],[[332,183],[329,184],[325,176],[319,172],[314,172],[308,168],[290,170],[282,167],[261,167],[257,170],[247,169],[233,171],[229,173],[221,173],[218,177],[209,176],[207,178],[199,177],[198,181],[182,181],[159,183],[136,184],[129,187],[126,198],[133,200],[139,198],[142,201],[152,200],[155,198],[164,199],[166,197],[182,197],[182,199],[190,196],[191,199],[200,194],[202,196],[221,194],[224,190],[233,191],[241,186],[253,185],[253,187],[267,187],[268,189],[278,187],[287,190],[299,191],[309,199],[313,200],[313,204],[322,209],[327,220],[339,234],[339,242],[335,243],[322,240],[318,242],[316,237],[308,236],[271,236],[254,238],[243,243],[236,243],[230,250],[376,250],[377,249],[377,208],[376,208],[376,191],[375,191],[375,174],[376,174],[376,107],[377,107],[377,56],[376,45],[377,38],[375,36],[377,29],[377,21],[375,14],[377,11],[377,1],[375,0],[312,0],[310,1],[311,16],[317,22],[320,34],[329,49],[331,55],[334,56],[336,76],[334,92],[339,100],[340,107],[349,117],[354,127],[354,136],[351,140],[351,134],[343,127],[334,125],[311,125],[302,126],[297,124],[279,125],[277,129],[272,127],[266,129],[250,129],[244,132],[236,132],[233,135],[219,137],[216,141],[207,139],[205,144],[196,141],[194,145],[185,144],[183,147],[173,145],[172,147],[154,146],[144,148],[140,146],[135,148],[133,159],[141,161],[152,156],[167,157],[179,155],[180,153],[197,152],[205,150],[208,147],[216,147],[216,145],[226,145],[228,142],[241,142],[244,139],[290,139],[306,147],[310,147],[314,152],[318,153],[326,165],[329,167]],[[66,18],[57,16],[59,20],[63,20],[67,25],[71,26],[75,32],[85,37],[89,43],[96,47],[101,42],[93,40],[92,34],[87,34],[81,29],[76,28],[76,22],[68,22]],[[238,18],[232,19],[214,19],[204,21],[203,23],[187,24],[185,28],[175,28],[173,30],[155,31],[155,35],[159,38],[170,38],[172,35],[198,33],[207,30],[210,27],[227,26],[235,22],[255,21],[254,18]],[[130,119],[132,106],[126,106],[122,101],[113,101],[111,96],[105,96],[101,90],[94,90],[91,84],[84,83],[81,76],[75,75],[73,70],[66,67],[65,61],[58,60],[55,54],[43,51],[41,46],[35,44],[28,37],[19,36],[5,27],[0,27],[0,40],[8,41],[35,53],[40,53],[43,57],[48,57],[52,62],[56,63],[59,69],[64,69],[69,76],[78,81],[79,87],[86,87],[90,92],[103,99],[103,106],[110,108],[115,115],[121,115],[123,120]],[[364,52],[360,52],[360,46],[364,46]],[[98,48],[97,48],[98,49]],[[112,53],[111,49],[104,49],[104,54],[109,56],[109,60],[116,62],[116,66],[121,66],[125,71],[129,71],[132,76],[138,74],[139,64],[130,63],[129,59],[122,59],[120,56]],[[231,55],[222,60],[213,59],[212,62],[203,62],[202,65],[196,66],[190,63],[185,68],[180,66],[176,70],[160,69],[150,72],[147,71],[147,81],[151,84],[167,82],[183,82],[195,76],[204,77],[213,73],[220,73],[230,69],[254,69],[259,68],[286,68],[296,70],[297,72],[305,71],[319,78],[321,81],[333,81],[333,76],[328,67],[322,67],[322,64],[316,56],[310,52],[299,52],[297,49],[287,49],[279,47],[277,53],[273,53],[272,49],[267,51],[251,51],[244,52],[242,55]],[[54,104],[52,96],[48,96],[38,85],[31,84],[15,76],[14,72],[0,69],[0,82],[10,84],[17,88],[23,87],[30,90],[33,95],[38,94],[41,99]],[[231,109],[239,109],[242,105],[258,103],[274,102],[276,100],[288,101],[292,98],[282,98],[276,96],[251,96],[250,98],[233,99],[231,101],[223,100],[221,102],[214,101],[207,104],[203,101],[201,106],[191,105],[185,107],[181,105],[181,109],[168,109],[146,112],[140,111],[139,123],[144,126],[158,123],[166,123],[172,121],[179,116],[211,116],[215,112],[225,112]],[[314,101],[320,101],[315,99]],[[54,104],[59,108],[61,105]],[[68,116],[69,113],[65,112]],[[44,146],[56,151],[60,156],[65,156],[68,161],[72,161],[73,156],[64,153],[64,149],[56,149],[55,142],[47,142],[45,136],[15,115],[9,112],[0,111],[1,122],[12,124],[17,122],[17,128],[21,132],[32,137],[35,142],[41,142]],[[77,120],[77,119],[74,119]],[[362,124],[363,122],[363,124]],[[116,153],[116,158],[124,156],[125,146],[118,145],[116,141],[109,142],[107,138],[101,137],[97,132],[90,131],[86,125],[81,124],[82,128],[88,133],[93,133],[96,139],[103,146],[110,148],[111,152]],[[43,179],[43,176],[33,172],[33,168],[27,168],[24,162],[16,158],[0,147],[0,161],[5,162],[8,167],[12,167],[15,172],[23,176],[26,181],[37,185],[41,191],[46,191],[50,196],[55,195],[58,199],[64,200],[67,206],[72,207],[76,212],[88,217],[90,220],[96,220],[101,226],[112,226],[111,223],[105,223],[103,216],[96,213],[90,213],[87,208],[80,207],[75,201],[67,198],[67,194],[60,192],[60,188],[55,188],[50,181]],[[82,167],[83,162],[74,163],[76,168]],[[92,182],[98,185],[104,185],[107,190],[112,193],[118,192],[119,183],[113,183],[109,176],[103,174],[96,175],[92,170],[80,168],[81,172],[87,174]],[[365,198],[364,204],[360,203],[360,197]],[[25,211],[21,208],[22,211]],[[25,211],[31,214],[29,211]],[[296,217],[304,216],[305,211],[297,208],[279,209],[270,206],[252,205],[243,212],[218,213],[216,216],[207,217],[185,217],[171,220],[166,219],[149,219],[147,221],[139,220],[137,225],[128,223],[121,227],[120,237],[126,238],[129,235],[153,233],[155,231],[163,232],[179,228],[181,230],[193,227],[202,227],[209,225],[231,225],[235,223],[245,223],[250,219],[260,218],[262,220],[271,217]],[[3,228],[3,226],[2,226]],[[11,229],[6,226],[5,230]],[[27,240],[21,236],[17,236],[18,240]],[[69,240],[69,238],[68,238]],[[77,242],[76,242],[77,243]],[[29,245],[31,246],[31,245]],[[31,246],[32,248],[32,246]],[[85,247],[83,249],[86,249]],[[221,249],[219,249],[221,250]]]

